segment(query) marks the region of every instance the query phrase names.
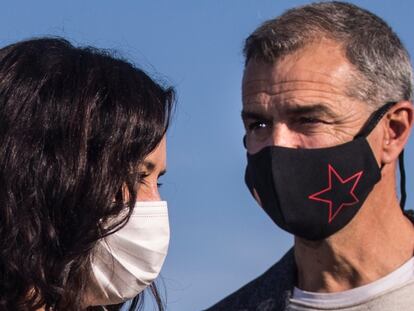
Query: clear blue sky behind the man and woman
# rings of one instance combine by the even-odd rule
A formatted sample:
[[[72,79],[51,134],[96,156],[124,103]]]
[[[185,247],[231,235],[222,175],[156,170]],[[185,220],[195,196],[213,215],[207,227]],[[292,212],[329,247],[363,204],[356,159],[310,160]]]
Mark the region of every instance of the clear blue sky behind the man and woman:
[[[414,2],[352,1],[383,17],[414,55]],[[167,310],[201,310],[263,273],[292,245],[244,186],[240,120],[243,40],[261,22],[309,1],[9,1],[0,45],[54,35],[115,49],[177,89],[168,138],[171,244],[162,276]],[[407,148],[413,207],[414,145]],[[149,304],[145,310],[152,310]]]

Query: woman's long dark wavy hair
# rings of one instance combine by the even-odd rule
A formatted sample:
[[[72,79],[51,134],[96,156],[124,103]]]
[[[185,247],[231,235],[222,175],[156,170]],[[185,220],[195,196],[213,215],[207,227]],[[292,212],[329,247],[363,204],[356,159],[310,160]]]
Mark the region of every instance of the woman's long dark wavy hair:
[[[91,250],[127,222],[173,102],[105,51],[59,38],[0,50],[0,310],[83,308]]]

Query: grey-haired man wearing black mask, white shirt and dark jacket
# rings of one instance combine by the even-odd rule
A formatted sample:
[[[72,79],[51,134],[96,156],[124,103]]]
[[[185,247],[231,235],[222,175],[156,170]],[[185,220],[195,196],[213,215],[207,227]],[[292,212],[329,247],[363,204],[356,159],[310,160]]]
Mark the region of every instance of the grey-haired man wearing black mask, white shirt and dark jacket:
[[[414,310],[414,227],[396,191],[413,123],[400,40],[324,2],[265,22],[244,52],[246,183],[295,242],[209,310]]]

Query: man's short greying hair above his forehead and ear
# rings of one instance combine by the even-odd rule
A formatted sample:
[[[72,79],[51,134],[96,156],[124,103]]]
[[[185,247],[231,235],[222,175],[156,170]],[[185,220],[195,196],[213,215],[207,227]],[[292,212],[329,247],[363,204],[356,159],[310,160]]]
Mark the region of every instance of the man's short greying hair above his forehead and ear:
[[[246,39],[246,64],[274,63],[322,37],[338,42],[356,69],[349,96],[373,107],[412,100],[410,57],[400,39],[381,18],[349,3],[313,3],[266,21]]]

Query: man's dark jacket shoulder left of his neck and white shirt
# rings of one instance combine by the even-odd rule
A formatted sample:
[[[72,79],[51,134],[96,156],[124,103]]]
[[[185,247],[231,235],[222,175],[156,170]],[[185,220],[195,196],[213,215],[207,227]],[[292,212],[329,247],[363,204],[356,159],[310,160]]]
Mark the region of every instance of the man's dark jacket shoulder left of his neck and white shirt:
[[[295,280],[296,265],[291,249],[264,274],[206,311],[284,310]]]

